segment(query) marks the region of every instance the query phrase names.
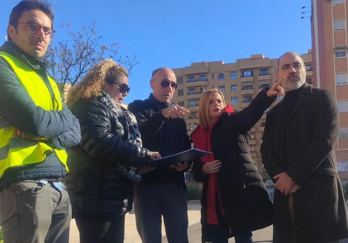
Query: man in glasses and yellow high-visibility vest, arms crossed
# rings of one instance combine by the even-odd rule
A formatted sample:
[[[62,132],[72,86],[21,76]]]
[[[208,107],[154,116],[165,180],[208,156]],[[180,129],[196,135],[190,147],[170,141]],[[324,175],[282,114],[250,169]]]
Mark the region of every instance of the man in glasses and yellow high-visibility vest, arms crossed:
[[[54,34],[53,11],[21,1],[0,47],[0,226],[4,242],[69,242],[71,204],[62,178],[65,148],[81,139],[42,58]]]

